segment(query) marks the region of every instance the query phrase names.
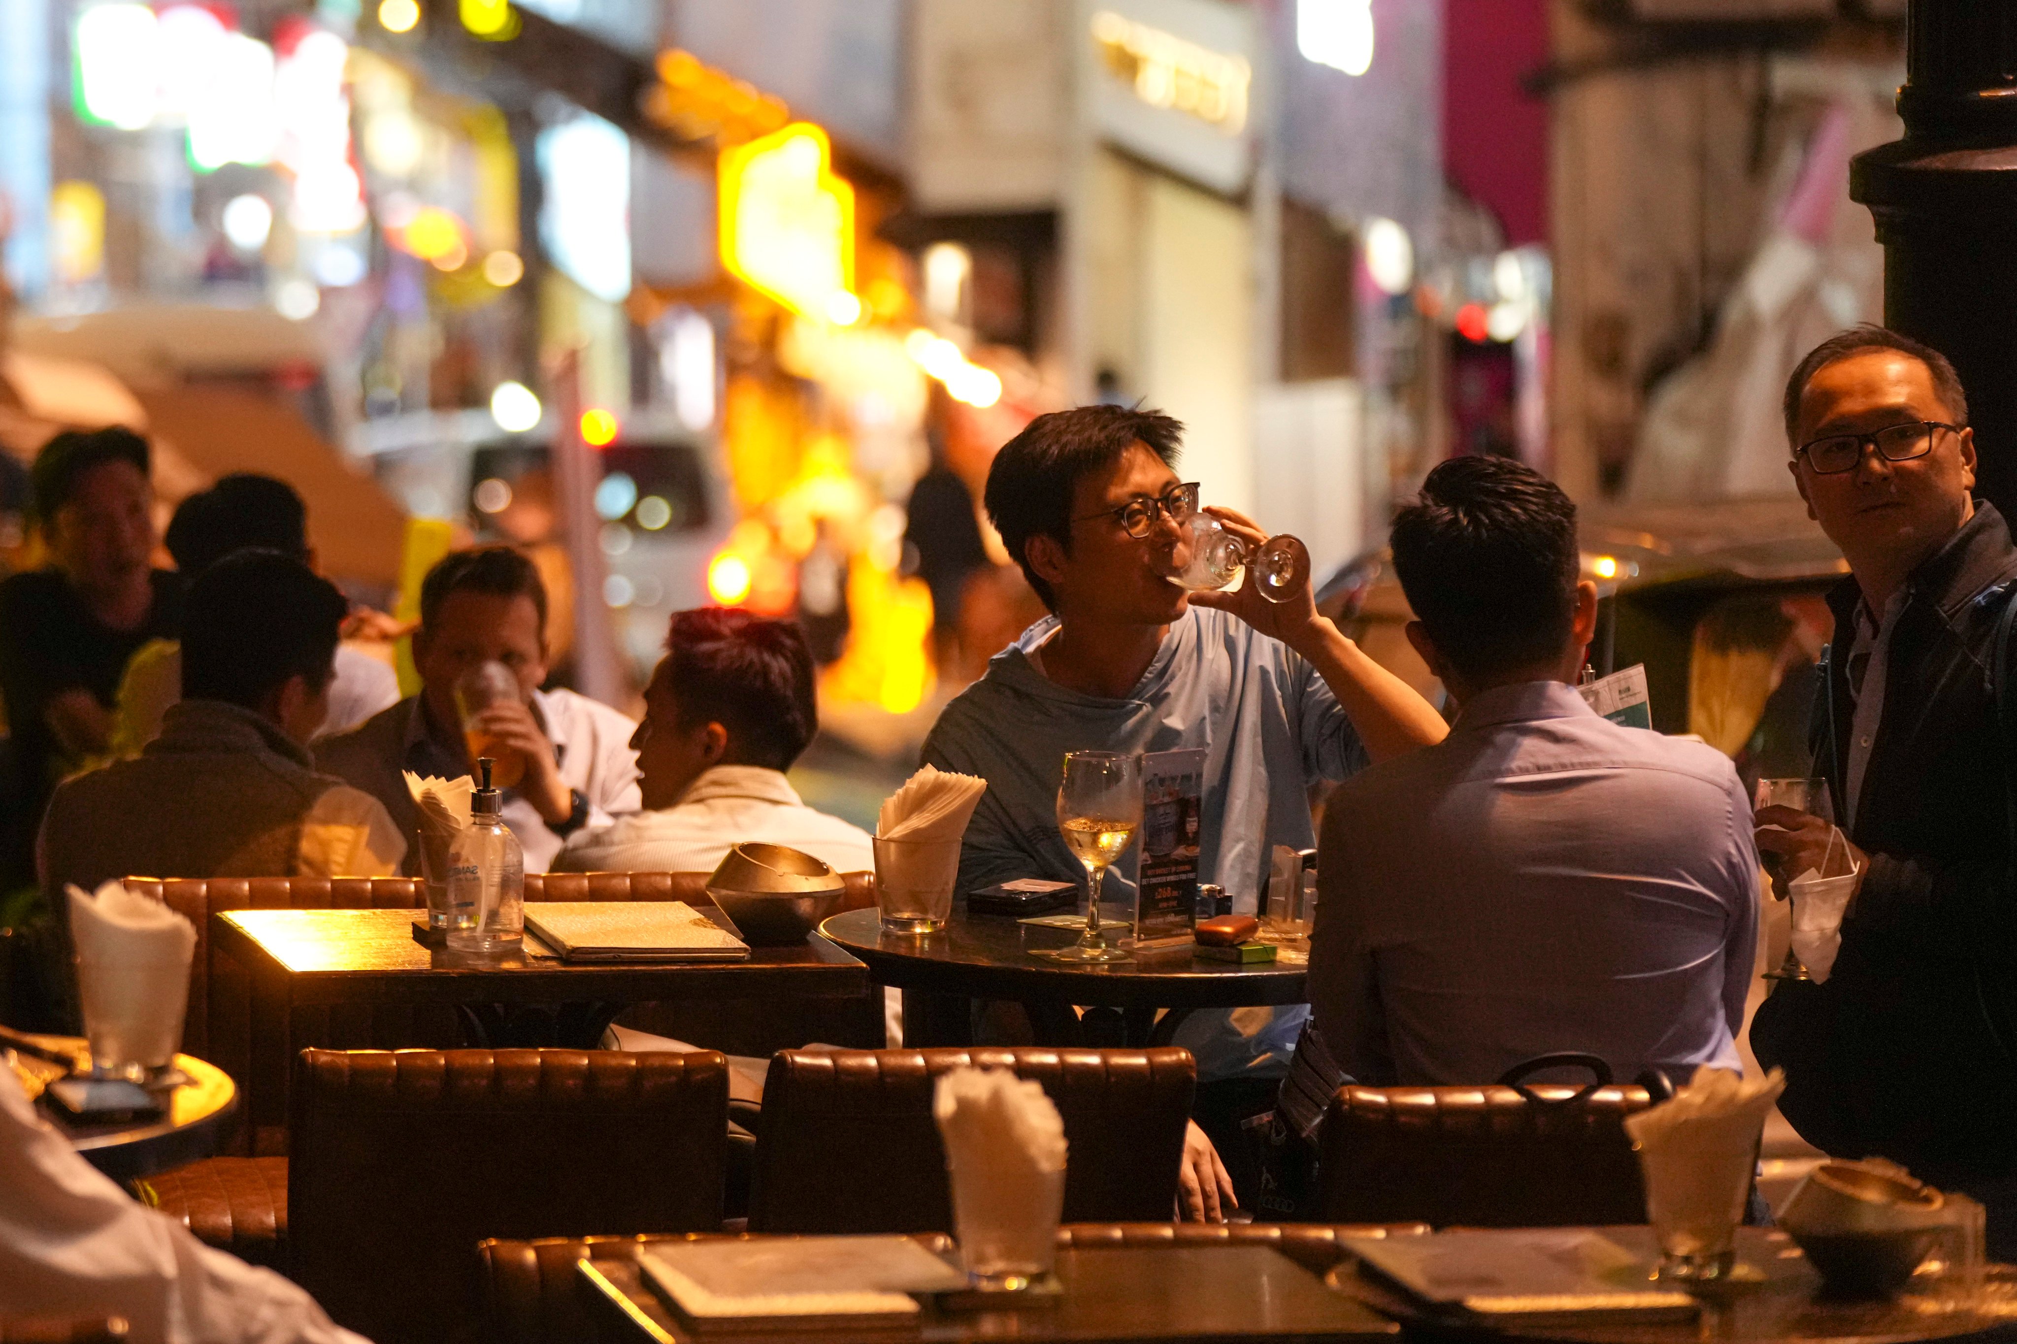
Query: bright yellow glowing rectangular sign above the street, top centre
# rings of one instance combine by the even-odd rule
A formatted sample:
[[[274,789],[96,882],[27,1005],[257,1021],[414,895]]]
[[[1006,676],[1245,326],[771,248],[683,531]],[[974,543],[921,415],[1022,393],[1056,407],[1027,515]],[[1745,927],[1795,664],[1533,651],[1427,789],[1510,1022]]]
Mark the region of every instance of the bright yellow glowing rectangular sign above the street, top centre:
[[[855,190],[831,165],[827,133],[805,121],[720,157],[722,264],[825,321],[855,285]]]

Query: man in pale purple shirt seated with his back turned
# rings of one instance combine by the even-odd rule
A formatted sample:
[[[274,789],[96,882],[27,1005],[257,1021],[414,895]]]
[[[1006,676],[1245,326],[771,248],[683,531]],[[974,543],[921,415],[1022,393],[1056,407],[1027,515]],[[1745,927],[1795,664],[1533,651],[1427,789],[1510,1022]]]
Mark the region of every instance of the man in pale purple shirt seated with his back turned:
[[[1489,1084],[1563,1049],[1620,1080],[1739,1070],[1751,803],[1723,753],[1577,694],[1597,589],[1575,505],[1519,462],[1454,458],[1392,547],[1408,642],[1462,708],[1331,793],[1283,1120],[1309,1138],[1343,1082]]]

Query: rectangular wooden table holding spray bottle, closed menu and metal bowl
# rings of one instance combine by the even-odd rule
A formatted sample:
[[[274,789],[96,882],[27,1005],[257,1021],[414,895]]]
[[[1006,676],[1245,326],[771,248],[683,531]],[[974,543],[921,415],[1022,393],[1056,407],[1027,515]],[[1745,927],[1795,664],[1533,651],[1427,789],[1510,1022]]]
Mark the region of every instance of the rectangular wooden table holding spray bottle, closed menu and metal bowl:
[[[674,999],[841,997],[867,993],[867,969],[823,938],[752,948],[720,965],[569,965],[510,953],[484,961],[413,940],[413,910],[230,910],[210,916],[210,946],[252,979],[254,1130],[286,1124],[296,1007],[446,1003],[466,1009],[478,1045],[593,1049],[629,1003]],[[539,1005],[530,1039],[514,1009]]]

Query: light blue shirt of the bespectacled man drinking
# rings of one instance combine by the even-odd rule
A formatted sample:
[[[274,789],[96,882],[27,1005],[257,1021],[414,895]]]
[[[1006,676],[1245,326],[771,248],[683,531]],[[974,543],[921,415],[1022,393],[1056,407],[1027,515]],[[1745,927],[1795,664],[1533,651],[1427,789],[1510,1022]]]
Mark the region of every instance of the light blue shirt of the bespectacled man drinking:
[[[942,771],[988,781],[960,848],[960,890],[1011,878],[1079,882],[1085,868],[1057,829],[1057,783],[1069,751],[1202,747],[1204,817],[1198,880],[1251,912],[1273,846],[1307,850],[1309,785],[1366,765],[1357,731],[1323,676],[1230,611],[1190,607],[1170,624],[1142,680],[1119,698],[1049,680],[1031,660],[1059,630],[1047,615],[988,662],[924,741]],[[1140,846],[1107,872],[1107,900],[1134,902]],[[1279,1076],[1303,1009],[1194,1013],[1176,1043],[1198,1078]]]

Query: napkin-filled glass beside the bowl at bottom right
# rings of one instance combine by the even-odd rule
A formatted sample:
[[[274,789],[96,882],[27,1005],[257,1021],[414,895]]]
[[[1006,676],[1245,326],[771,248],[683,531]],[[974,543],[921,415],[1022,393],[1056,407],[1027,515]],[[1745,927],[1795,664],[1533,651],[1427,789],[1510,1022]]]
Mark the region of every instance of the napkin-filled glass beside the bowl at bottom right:
[[[1662,1247],[1696,1253],[1692,1243],[1729,1243],[1751,1193],[1765,1112],[1781,1092],[1779,1070],[1747,1080],[1704,1063],[1672,1100],[1626,1116],[1646,1174],[1648,1221]]]

